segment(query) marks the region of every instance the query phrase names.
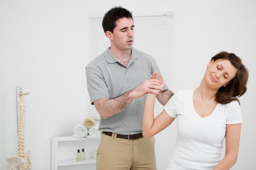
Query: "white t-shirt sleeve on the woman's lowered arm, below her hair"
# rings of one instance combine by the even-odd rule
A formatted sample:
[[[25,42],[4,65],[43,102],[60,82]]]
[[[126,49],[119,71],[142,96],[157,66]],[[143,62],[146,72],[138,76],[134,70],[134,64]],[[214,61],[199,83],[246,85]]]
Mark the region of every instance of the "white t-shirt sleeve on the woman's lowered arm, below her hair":
[[[237,101],[230,102],[227,109],[227,122],[226,124],[242,123],[241,108]]]

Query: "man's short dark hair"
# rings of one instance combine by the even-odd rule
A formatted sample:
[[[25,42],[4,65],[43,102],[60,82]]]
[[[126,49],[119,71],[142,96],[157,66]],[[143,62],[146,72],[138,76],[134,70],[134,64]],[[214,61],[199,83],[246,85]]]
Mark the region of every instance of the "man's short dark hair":
[[[133,19],[132,12],[121,6],[115,6],[107,11],[102,20],[102,27],[104,33],[106,33],[106,31],[110,31],[113,33],[114,28],[117,26],[116,21],[123,17]]]

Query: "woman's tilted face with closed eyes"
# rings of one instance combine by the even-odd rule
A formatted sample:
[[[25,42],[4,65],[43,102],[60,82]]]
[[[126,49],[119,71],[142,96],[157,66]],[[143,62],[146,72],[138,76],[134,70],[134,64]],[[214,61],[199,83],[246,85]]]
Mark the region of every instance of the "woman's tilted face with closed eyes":
[[[204,74],[205,82],[215,89],[228,85],[237,72],[237,69],[226,59],[211,60],[207,67]]]

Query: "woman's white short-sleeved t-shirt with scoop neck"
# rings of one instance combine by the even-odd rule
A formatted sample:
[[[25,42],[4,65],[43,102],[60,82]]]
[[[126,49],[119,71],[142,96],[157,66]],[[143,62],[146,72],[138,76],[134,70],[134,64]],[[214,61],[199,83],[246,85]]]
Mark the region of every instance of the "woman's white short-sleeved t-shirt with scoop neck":
[[[164,106],[177,118],[177,141],[166,170],[213,170],[221,161],[226,124],[242,122],[237,101],[217,103],[207,117],[200,117],[193,103],[194,89],[178,91]]]

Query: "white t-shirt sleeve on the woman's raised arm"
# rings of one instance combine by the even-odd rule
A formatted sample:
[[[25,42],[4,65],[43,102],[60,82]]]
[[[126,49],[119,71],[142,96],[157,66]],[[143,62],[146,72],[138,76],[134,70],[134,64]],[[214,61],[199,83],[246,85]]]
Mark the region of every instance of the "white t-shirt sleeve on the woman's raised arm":
[[[178,93],[175,93],[164,106],[164,110],[172,118],[177,117],[177,98]]]

